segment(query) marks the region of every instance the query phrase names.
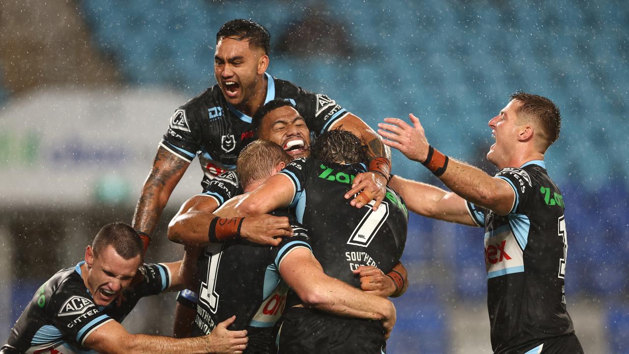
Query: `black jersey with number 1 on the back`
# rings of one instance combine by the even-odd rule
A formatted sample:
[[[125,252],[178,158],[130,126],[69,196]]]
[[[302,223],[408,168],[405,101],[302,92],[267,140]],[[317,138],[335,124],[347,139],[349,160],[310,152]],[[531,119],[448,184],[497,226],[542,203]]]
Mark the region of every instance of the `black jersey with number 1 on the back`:
[[[291,227],[293,236],[276,247],[232,239],[205,248],[198,260],[201,288],[192,336],[209,334],[216,324],[236,315],[230,329],[247,329],[247,352],[269,350],[271,329],[284,311],[288,291],[279,265],[294,249],[311,251],[307,231],[294,217]]]

